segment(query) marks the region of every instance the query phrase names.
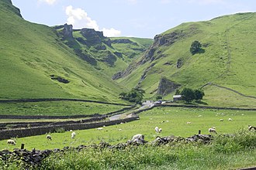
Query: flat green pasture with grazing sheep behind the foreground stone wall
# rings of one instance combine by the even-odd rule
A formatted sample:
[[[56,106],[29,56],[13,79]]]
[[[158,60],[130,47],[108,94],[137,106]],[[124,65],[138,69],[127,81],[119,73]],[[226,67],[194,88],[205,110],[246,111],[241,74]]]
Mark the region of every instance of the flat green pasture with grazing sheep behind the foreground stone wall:
[[[153,141],[159,136],[182,136],[188,138],[197,134],[209,134],[208,129],[215,127],[220,134],[233,134],[247,128],[248,124],[256,125],[256,111],[246,110],[202,110],[192,108],[157,107],[139,114],[140,120],[130,123],[116,124],[103,127],[102,130],[88,129],[75,131],[76,137],[71,139],[71,132],[50,134],[53,138],[48,141],[46,135],[27,138],[16,138],[16,146],[7,145],[6,140],[0,141],[0,150],[19,148],[23,143],[25,148],[54,149],[64,146],[92,145],[101,141],[118,144],[131,139],[134,134],[144,134],[146,141]],[[228,121],[231,118],[233,121]],[[223,119],[223,121],[220,121]],[[187,124],[191,122],[191,124]],[[155,127],[162,128],[161,134],[154,131]]]

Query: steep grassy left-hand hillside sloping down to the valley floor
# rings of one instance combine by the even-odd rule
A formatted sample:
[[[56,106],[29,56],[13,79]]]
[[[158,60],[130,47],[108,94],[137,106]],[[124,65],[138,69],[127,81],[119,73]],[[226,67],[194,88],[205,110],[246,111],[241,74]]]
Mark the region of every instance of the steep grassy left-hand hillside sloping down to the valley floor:
[[[22,19],[0,1],[0,98],[66,97],[117,101],[126,91],[61,42],[55,29]]]

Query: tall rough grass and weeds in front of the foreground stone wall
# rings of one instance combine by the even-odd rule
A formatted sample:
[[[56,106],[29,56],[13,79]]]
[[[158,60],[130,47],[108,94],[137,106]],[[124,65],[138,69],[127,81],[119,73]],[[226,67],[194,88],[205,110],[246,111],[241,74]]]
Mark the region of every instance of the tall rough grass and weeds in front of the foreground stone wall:
[[[241,145],[240,140],[251,138],[254,133],[230,138],[215,138],[213,144],[182,143],[180,145],[126,147],[125,149],[85,148],[81,151],[65,151],[50,155],[34,169],[236,169],[254,166],[255,144]],[[220,150],[222,141],[228,140],[226,150]],[[241,145],[237,149],[237,145]],[[244,147],[243,147],[244,146]],[[8,164],[12,169],[12,165]],[[19,162],[20,163],[20,162]],[[19,165],[19,164],[18,164]],[[19,168],[24,165],[19,165]],[[16,169],[16,168],[13,168]]]

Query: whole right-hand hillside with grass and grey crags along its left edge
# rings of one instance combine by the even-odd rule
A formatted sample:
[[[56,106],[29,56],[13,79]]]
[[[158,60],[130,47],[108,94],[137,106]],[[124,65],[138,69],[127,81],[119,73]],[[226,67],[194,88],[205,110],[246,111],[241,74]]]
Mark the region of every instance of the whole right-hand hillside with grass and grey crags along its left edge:
[[[203,87],[209,104],[223,100],[244,100],[243,97],[247,96],[249,103],[253,101],[256,105],[255,26],[256,13],[183,23],[155,36],[154,44],[147,53],[118,73],[117,81],[128,87],[141,86],[148,98],[156,93],[166,94],[158,86],[164,78],[175,88]],[[192,55],[189,49],[195,40],[202,43],[202,48],[199,53]],[[226,93],[217,93],[220,86],[224,87],[222,90],[226,90]],[[168,93],[174,93],[175,88]],[[232,99],[223,97],[227,93],[241,95]],[[236,101],[232,102],[233,105],[237,104]]]

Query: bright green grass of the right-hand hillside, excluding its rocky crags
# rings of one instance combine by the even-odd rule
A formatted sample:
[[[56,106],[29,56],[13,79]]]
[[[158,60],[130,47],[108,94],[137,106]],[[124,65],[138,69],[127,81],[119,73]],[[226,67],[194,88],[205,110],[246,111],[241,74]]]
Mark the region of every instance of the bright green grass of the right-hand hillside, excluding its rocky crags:
[[[256,14],[244,13],[226,15],[207,22],[183,23],[164,32],[163,35],[183,31],[188,36],[171,46],[157,48],[154,56],[157,56],[157,53],[164,56],[152,62],[156,65],[141,83],[147,92],[146,97],[154,96],[155,93],[150,93],[157,89],[161,76],[167,76],[170,80],[181,83],[183,87],[199,88],[212,82],[256,97],[256,76],[253,71],[255,26]],[[205,45],[202,47],[205,53],[192,56],[189,48],[194,40],[199,40]],[[180,69],[176,67],[179,58],[185,61]],[[172,65],[164,65],[167,62]],[[136,86],[150,64],[140,66],[130,76],[119,81],[128,87]],[[210,88],[206,88],[206,93],[213,93],[208,90]],[[221,96],[221,93],[217,95]]]

